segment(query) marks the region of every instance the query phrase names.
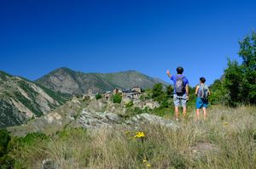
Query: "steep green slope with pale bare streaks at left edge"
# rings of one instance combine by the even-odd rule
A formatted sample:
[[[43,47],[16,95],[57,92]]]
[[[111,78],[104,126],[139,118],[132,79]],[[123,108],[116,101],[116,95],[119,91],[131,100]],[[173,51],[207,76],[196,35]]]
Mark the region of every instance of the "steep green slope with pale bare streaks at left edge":
[[[0,127],[24,123],[63,104],[60,94],[19,76],[0,71]]]

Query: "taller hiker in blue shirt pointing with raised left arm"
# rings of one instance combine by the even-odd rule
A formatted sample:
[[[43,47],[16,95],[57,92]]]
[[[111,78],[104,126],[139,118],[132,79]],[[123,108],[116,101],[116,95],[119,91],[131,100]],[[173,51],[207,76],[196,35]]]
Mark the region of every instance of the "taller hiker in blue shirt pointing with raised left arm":
[[[187,101],[189,100],[189,81],[183,76],[183,68],[177,67],[177,75],[171,76],[170,71],[167,70],[167,76],[169,76],[173,82],[173,103],[175,105],[175,117],[178,121],[178,108],[183,107],[183,116],[187,114]]]

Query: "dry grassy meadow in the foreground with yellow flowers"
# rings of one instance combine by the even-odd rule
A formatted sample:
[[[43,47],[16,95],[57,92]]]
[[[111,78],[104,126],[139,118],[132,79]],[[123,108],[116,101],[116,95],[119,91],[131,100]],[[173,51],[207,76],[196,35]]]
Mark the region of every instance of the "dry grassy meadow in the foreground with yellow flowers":
[[[40,168],[45,159],[62,169],[255,168],[255,108],[214,107],[207,121],[195,121],[194,115],[175,130],[152,124],[129,134],[124,128],[70,129],[16,155],[26,168]],[[139,131],[146,135],[143,141],[133,137]]]

